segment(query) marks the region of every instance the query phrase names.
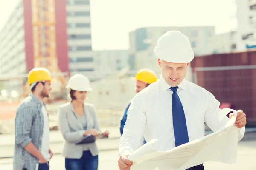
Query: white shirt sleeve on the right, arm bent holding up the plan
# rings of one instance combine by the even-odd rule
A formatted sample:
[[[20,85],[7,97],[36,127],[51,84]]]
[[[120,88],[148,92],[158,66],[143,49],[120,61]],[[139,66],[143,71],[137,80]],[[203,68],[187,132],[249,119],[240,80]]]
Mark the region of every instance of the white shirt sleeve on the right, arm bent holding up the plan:
[[[213,132],[220,130],[229,120],[227,116],[224,116],[222,120],[218,119],[218,113],[221,111],[219,106],[220,102],[215,99],[212,93],[207,91],[207,109],[204,116],[204,122]],[[244,136],[244,128],[245,127],[238,129],[238,141]]]

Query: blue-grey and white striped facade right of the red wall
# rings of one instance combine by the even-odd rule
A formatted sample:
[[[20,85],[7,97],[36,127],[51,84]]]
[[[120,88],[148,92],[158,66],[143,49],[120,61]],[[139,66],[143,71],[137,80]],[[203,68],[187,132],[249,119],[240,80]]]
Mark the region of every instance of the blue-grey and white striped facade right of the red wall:
[[[66,9],[70,72],[93,72],[90,0],[67,0]]]

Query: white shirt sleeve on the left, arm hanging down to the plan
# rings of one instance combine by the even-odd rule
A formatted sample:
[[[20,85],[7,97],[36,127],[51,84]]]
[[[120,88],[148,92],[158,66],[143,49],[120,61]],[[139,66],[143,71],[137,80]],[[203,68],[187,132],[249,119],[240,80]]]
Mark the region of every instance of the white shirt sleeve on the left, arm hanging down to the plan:
[[[128,110],[127,121],[120,138],[120,155],[130,155],[141,146],[141,138],[146,125],[145,99],[137,94]]]

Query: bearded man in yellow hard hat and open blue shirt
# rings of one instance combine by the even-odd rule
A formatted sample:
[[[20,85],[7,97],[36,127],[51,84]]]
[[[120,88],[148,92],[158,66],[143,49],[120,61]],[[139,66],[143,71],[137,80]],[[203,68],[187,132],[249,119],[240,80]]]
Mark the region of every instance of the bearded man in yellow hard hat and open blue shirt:
[[[31,94],[17,109],[15,118],[14,170],[49,170],[53,153],[49,148],[48,113],[43,99],[51,91],[51,75],[46,68],[28,74]]]

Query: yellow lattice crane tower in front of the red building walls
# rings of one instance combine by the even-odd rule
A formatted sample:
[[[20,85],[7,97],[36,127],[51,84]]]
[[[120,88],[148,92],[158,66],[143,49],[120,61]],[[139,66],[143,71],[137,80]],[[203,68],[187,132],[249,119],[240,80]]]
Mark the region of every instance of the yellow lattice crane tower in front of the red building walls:
[[[32,0],[32,30],[34,67],[44,67],[51,73],[60,73],[56,55],[55,0]],[[64,75],[53,77],[53,94],[61,91],[66,82]],[[25,86],[26,92],[29,92],[29,85]]]

